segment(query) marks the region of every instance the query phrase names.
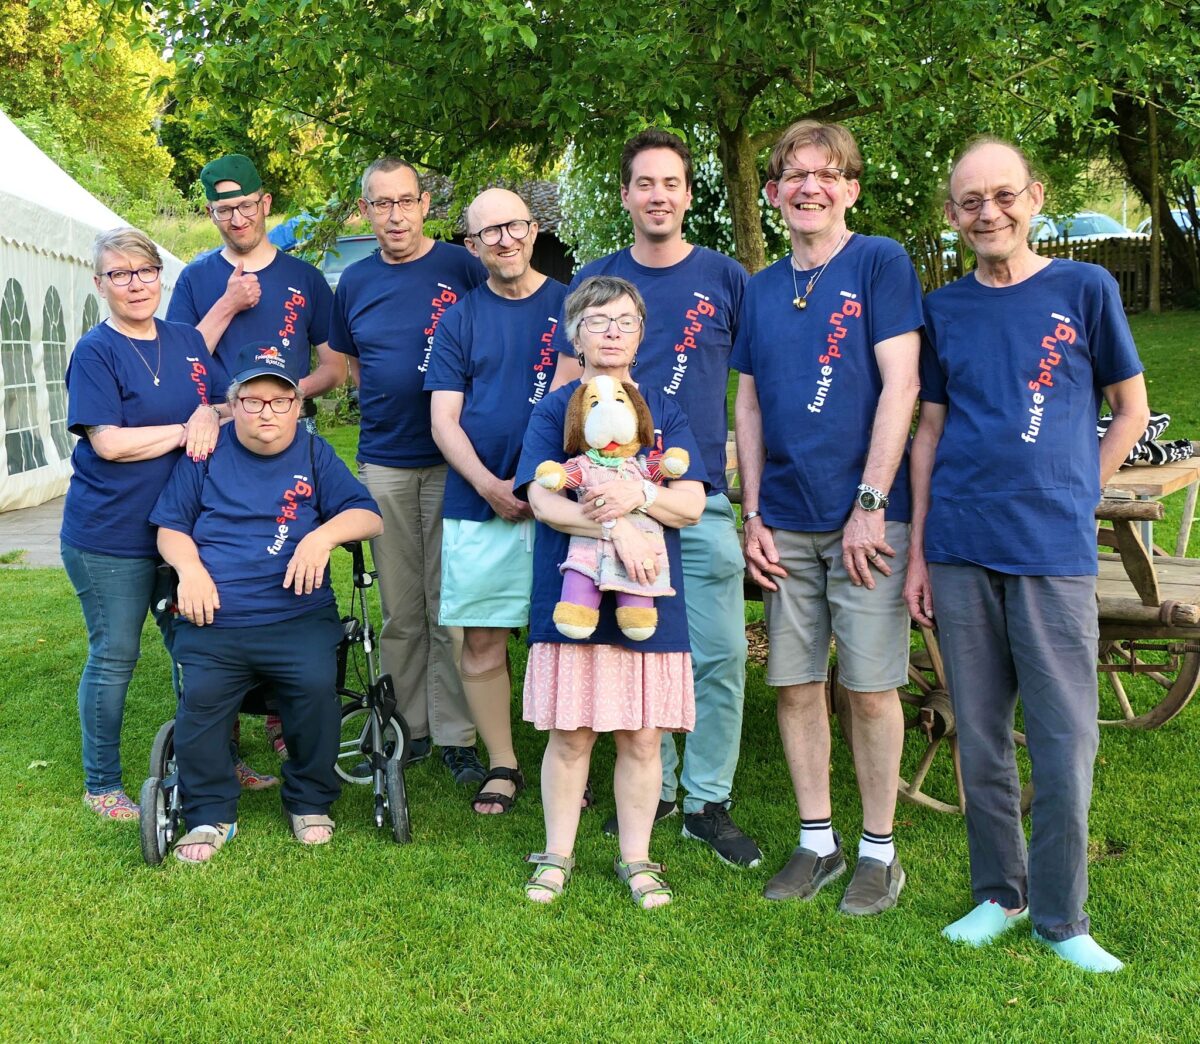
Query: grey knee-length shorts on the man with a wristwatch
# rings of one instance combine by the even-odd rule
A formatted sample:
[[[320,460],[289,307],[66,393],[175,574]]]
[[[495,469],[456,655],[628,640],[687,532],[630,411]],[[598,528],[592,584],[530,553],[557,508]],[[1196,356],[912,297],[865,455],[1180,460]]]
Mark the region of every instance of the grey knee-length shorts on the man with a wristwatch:
[[[904,578],[908,526],[886,523],[892,575],[875,571],[875,589],[854,587],[841,560],[841,530],[775,529],[787,576],[763,593],[768,685],[804,685],[829,677],[829,638],[838,637],[838,678],[854,692],[886,692],[908,678],[908,610]]]

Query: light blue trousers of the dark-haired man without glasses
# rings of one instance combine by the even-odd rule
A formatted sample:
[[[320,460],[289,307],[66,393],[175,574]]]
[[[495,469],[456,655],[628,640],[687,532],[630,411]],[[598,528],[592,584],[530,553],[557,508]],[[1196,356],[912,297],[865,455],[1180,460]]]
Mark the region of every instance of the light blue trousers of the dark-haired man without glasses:
[[[662,733],[662,800],[678,786],[686,814],[713,802],[728,805],[742,748],[746,624],[742,577],[745,560],[733,508],[724,494],[708,498],[700,523],[679,532],[684,599],[696,686],[696,727],[684,740],[683,773],[674,733]]]

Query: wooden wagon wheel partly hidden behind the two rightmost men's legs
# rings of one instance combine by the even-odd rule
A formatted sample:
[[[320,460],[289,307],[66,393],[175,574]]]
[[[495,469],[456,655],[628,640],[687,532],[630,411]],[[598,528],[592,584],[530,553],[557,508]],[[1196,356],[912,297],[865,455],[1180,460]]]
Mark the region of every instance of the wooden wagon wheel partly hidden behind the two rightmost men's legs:
[[[899,797],[910,804],[937,812],[966,810],[962,794],[962,772],[959,764],[959,743],[954,724],[954,708],[946,685],[946,668],[937,644],[937,636],[920,628],[924,648],[916,648],[908,656],[908,684],[900,690],[905,715],[905,744],[900,761]],[[829,676],[830,713],[838,715],[846,746],[853,750],[853,725],[850,715],[850,695],[838,682],[838,668]],[[1019,748],[1025,736],[1013,732]],[[944,751],[944,752],[943,752]],[[938,757],[938,754],[942,756]],[[1028,779],[1028,761],[1020,760],[1021,779]],[[1021,811],[1028,812],[1033,799],[1032,785],[1021,788]]]

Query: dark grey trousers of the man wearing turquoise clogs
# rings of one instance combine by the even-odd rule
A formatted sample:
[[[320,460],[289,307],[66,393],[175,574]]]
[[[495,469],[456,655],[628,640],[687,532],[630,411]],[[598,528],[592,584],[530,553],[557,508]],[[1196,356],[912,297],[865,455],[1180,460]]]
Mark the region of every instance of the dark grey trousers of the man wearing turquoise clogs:
[[[1033,926],[1056,942],[1085,935],[1099,744],[1096,577],[929,569],[958,722],[974,901],[1028,902]],[[1033,767],[1027,853],[1013,745],[1018,692]]]

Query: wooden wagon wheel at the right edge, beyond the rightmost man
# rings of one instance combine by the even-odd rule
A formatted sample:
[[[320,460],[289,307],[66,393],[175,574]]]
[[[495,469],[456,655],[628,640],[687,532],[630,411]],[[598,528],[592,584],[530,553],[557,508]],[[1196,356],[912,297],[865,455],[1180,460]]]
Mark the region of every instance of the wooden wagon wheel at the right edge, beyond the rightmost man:
[[[1116,638],[1100,642],[1100,725],[1158,728],[1200,683],[1200,642]]]

